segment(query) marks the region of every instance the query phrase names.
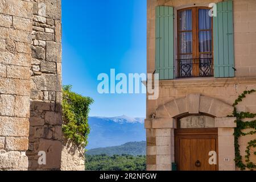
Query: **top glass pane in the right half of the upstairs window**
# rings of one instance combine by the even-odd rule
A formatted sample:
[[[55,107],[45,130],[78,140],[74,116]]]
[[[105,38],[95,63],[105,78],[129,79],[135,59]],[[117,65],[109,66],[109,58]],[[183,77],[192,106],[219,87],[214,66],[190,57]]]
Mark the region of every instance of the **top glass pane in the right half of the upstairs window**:
[[[212,29],[212,17],[209,16],[208,9],[199,10],[199,30]]]

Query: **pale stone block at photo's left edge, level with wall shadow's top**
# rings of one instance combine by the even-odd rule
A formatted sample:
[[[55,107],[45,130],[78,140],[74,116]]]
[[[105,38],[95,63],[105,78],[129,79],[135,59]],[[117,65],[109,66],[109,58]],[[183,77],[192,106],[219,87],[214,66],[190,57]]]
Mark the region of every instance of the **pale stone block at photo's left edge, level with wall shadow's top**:
[[[11,95],[0,95],[0,115],[14,116],[15,97]]]

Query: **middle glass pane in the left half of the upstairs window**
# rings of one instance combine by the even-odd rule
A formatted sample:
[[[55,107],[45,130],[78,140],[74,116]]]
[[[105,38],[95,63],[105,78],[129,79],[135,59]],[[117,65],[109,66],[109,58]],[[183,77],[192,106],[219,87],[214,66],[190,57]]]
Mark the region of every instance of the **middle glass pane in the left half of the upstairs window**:
[[[192,53],[192,32],[179,33],[179,53]]]

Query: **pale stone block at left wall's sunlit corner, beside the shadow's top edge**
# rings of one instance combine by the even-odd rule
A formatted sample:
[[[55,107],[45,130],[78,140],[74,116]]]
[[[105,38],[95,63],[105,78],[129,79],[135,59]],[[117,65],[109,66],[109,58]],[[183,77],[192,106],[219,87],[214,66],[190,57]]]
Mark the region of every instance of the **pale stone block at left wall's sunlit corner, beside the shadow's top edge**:
[[[30,97],[16,96],[15,97],[15,116],[28,118],[30,117]]]

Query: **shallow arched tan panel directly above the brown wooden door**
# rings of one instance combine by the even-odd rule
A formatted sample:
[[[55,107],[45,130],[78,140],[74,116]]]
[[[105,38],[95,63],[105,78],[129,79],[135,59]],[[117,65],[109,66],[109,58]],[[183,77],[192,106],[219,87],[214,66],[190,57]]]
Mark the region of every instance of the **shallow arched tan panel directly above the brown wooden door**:
[[[181,129],[213,128],[214,118],[206,115],[189,115],[180,119]]]

